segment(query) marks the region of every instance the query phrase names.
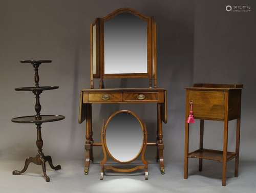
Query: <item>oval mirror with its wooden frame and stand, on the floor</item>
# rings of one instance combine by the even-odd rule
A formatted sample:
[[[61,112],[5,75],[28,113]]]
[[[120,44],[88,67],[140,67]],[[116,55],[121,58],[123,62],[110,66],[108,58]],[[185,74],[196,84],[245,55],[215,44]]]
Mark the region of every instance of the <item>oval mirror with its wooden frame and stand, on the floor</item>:
[[[122,173],[145,169],[147,179],[147,162],[144,158],[147,133],[145,125],[136,114],[127,110],[117,111],[112,114],[103,125],[101,138],[104,154],[104,158],[101,161],[101,180],[103,179],[105,169]],[[105,166],[106,155],[121,164],[131,163],[141,155],[144,165],[138,165],[129,169]]]

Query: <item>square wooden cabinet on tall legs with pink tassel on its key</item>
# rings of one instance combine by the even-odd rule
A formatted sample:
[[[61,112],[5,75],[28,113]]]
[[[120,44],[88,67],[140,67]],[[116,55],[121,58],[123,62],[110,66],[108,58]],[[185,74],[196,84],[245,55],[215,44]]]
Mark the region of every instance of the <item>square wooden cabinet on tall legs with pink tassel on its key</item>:
[[[185,122],[184,179],[188,177],[188,158],[199,158],[199,171],[203,159],[222,162],[223,186],[226,186],[227,162],[235,158],[234,176],[238,177],[242,89],[243,84],[210,83],[197,83],[186,88],[185,121],[190,111],[189,101],[193,101],[194,118],[200,119],[200,142],[199,149],[189,153],[189,123]],[[222,151],[203,148],[204,119],[224,122]],[[228,152],[228,121],[233,119],[237,119],[236,152]]]

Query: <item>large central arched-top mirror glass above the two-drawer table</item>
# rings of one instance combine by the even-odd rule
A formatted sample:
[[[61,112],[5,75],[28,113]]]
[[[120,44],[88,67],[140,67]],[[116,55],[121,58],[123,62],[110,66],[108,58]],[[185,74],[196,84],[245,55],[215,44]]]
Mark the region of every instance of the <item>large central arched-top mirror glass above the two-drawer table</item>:
[[[147,22],[121,13],[104,22],[104,74],[147,73]]]

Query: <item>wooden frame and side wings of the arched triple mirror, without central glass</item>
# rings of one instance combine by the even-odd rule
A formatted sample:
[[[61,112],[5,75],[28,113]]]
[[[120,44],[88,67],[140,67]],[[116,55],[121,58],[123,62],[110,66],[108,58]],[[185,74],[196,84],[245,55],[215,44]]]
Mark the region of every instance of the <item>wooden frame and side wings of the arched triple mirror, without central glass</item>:
[[[121,13],[131,13],[147,22],[147,73],[104,74],[104,22]],[[91,89],[94,88],[94,78],[99,78],[99,88],[103,89],[104,78],[148,78],[148,87],[157,88],[157,50],[156,23],[154,17],[148,17],[131,8],[121,8],[105,17],[96,18],[91,24]],[[95,57],[94,57],[95,55]],[[94,62],[96,64],[94,71]],[[153,85],[152,85],[153,80]]]

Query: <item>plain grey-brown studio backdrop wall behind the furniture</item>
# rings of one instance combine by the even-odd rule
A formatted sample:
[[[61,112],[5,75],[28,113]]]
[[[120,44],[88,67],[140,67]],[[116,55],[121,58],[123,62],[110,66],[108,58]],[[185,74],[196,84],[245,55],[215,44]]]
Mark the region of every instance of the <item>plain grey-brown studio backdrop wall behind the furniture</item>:
[[[228,4],[250,5],[250,13],[231,13]],[[23,160],[36,153],[33,124],[10,120],[34,114],[34,95],[14,88],[33,86],[33,68],[22,59],[52,59],[39,67],[40,85],[59,85],[41,94],[42,114],[65,115],[42,124],[44,152],[54,160],[84,159],[85,123],[78,124],[79,91],[90,87],[90,24],[117,8],[129,7],[157,23],[158,82],[168,90],[168,123],[163,124],[165,164],[183,162],[185,87],[193,82],[244,83],[241,160],[255,160],[255,1],[1,1],[0,3],[0,159]],[[146,79],[109,79],[106,88],[147,87]],[[98,82],[95,82],[98,87]],[[156,105],[93,105],[94,141],[103,119],[119,109],[146,122],[156,137]],[[199,123],[191,126],[191,149],[198,147]],[[222,122],[205,122],[205,147],[222,148]],[[234,121],[229,147],[234,149]],[[95,158],[101,159],[100,147]],[[146,156],[154,160],[155,147]],[[60,163],[54,161],[54,163]]]

